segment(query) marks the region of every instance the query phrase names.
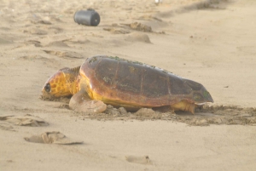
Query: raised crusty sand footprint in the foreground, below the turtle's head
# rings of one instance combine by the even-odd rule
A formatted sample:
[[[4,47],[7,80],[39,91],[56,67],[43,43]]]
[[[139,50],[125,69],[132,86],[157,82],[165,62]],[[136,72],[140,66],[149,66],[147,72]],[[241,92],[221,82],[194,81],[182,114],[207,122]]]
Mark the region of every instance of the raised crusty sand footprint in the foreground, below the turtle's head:
[[[24,138],[28,142],[43,143],[43,144],[58,144],[58,145],[74,145],[83,144],[83,141],[71,140],[60,132],[45,132],[40,135],[32,135],[31,137]]]

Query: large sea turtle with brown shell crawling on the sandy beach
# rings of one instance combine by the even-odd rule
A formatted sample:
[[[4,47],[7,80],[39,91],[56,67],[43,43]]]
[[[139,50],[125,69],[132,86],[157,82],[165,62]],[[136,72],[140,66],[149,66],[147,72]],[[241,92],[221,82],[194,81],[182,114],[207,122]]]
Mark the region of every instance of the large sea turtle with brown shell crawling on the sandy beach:
[[[127,111],[170,106],[173,111],[194,113],[195,105],[213,102],[201,83],[155,66],[102,55],[49,77],[42,89],[43,99],[65,96],[73,96],[71,109],[93,113],[105,111],[107,105]]]

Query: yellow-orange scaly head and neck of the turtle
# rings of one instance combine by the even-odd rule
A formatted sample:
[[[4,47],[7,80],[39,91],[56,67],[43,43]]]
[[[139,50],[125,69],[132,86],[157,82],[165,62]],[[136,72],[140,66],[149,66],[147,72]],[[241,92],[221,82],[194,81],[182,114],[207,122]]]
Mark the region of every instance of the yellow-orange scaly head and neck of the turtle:
[[[44,83],[42,99],[52,100],[54,98],[67,97],[77,93],[79,86],[79,67],[62,68]]]

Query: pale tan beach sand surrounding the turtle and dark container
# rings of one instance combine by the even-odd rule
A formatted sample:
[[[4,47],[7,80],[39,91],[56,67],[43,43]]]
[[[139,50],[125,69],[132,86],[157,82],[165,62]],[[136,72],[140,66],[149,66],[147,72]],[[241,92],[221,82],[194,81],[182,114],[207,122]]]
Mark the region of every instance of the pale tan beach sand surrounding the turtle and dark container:
[[[99,26],[73,21],[88,8]],[[255,170],[255,8],[254,0],[2,0],[0,170]],[[195,116],[96,116],[39,99],[51,74],[96,54],[195,80],[215,103]],[[60,143],[52,131],[84,143],[26,141]]]

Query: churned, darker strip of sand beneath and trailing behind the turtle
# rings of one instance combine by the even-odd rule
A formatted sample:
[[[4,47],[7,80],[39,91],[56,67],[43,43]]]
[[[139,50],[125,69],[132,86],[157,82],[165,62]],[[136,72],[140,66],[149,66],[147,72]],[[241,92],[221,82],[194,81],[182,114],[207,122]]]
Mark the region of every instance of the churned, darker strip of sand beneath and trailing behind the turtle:
[[[113,108],[108,105],[108,110],[100,114],[74,113],[73,117],[79,117],[97,120],[165,120],[177,123],[187,123],[189,126],[208,126],[210,124],[238,124],[238,125],[256,125],[256,108],[241,108],[232,105],[205,105],[201,109],[196,109],[195,115],[189,112],[154,111],[152,109],[141,109],[137,112],[127,112],[123,108]]]

